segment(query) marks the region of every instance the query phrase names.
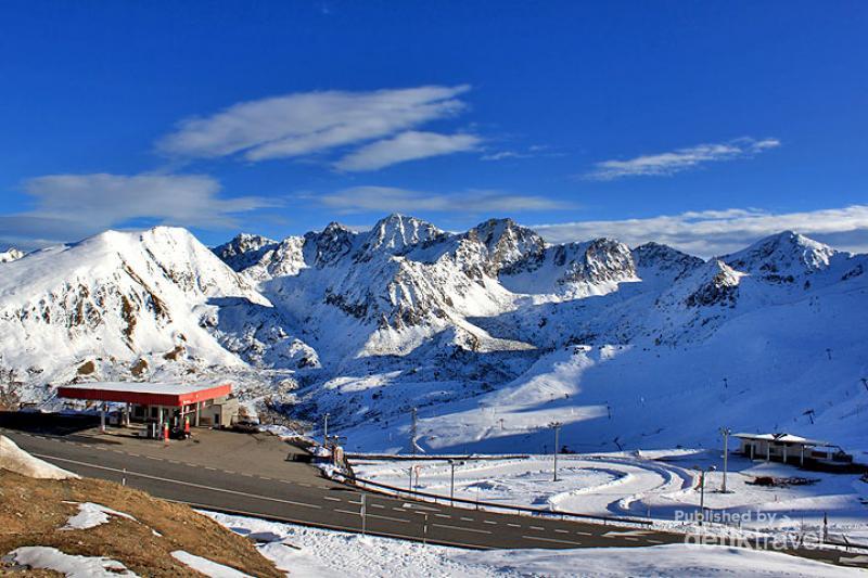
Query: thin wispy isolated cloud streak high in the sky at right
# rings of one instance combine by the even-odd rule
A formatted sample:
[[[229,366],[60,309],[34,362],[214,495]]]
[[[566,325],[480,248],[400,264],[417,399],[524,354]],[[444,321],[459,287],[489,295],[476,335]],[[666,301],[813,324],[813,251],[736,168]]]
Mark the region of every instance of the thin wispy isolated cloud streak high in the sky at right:
[[[780,146],[777,139],[736,139],[717,144],[698,144],[667,153],[641,155],[627,160],[603,160],[585,175],[586,179],[611,181],[624,177],[668,176],[681,172],[703,163],[751,157],[769,149]]]

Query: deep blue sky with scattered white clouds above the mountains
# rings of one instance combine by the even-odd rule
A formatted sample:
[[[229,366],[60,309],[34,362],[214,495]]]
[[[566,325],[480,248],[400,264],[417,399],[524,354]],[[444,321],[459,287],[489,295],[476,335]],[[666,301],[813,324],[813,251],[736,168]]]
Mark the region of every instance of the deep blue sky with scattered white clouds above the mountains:
[[[864,2],[7,2],[0,245],[397,210],[868,249]]]

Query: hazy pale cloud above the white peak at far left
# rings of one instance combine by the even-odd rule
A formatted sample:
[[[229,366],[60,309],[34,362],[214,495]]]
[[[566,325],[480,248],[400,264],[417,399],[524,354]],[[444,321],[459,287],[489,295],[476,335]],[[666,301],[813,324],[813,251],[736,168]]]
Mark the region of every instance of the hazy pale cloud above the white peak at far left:
[[[278,206],[255,196],[222,198],[220,183],[204,175],[50,175],[25,181],[24,191],[34,209],[0,215],[0,236],[40,244],[78,240],[136,219],[230,229],[239,214]]]

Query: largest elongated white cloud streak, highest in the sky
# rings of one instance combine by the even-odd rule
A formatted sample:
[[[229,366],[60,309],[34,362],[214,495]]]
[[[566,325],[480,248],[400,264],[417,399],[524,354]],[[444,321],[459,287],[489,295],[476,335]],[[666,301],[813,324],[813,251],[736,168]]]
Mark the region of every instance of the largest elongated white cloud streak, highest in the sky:
[[[299,92],[234,104],[215,115],[182,120],[157,143],[188,158],[242,155],[288,158],[358,144],[454,116],[469,86],[429,86],[371,92]]]

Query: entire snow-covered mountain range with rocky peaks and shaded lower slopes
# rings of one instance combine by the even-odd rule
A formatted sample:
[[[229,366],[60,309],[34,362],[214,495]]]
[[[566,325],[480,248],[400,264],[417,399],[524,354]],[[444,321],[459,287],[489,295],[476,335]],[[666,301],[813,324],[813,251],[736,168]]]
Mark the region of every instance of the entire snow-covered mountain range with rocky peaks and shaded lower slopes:
[[[411,407],[431,449],[539,450],[551,421],[577,449],[720,425],[868,448],[867,266],[792,232],[705,261],[547,245],[510,219],[450,233],[391,215],[213,251],[110,231],[2,266],[0,380],[29,399],[101,377],[291,384],[291,412],[329,411],[369,449],[406,447]]]

